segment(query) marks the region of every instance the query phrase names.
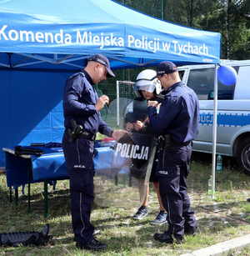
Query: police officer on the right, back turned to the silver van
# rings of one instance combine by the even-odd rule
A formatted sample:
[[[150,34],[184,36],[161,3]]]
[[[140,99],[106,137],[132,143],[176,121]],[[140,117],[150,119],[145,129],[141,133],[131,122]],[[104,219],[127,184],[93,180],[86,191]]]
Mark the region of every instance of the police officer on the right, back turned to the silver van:
[[[182,243],[184,233],[193,234],[197,221],[187,193],[192,141],[198,134],[198,97],[183,85],[174,63],[159,63],[158,78],[164,88],[163,103],[148,102],[149,122],[162,138],[158,164],[160,194],[168,211],[168,231],[155,233],[163,243]]]

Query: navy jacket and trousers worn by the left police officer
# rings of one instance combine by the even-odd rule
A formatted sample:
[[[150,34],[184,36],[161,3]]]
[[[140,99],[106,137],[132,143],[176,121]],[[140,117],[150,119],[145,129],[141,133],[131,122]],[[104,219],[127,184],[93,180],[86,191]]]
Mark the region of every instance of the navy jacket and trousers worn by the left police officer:
[[[63,96],[65,132],[62,148],[70,177],[72,228],[79,243],[87,243],[93,238],[90,213],[94,198],[92,158],[95,134],[99,132],[112,137],[112,129],[102,121],[96,103],[97,93],[87,72],[83,70],[67,79]],[[68,133],[72,129],[72,120],[85,132],[79,138],[72,139]]]

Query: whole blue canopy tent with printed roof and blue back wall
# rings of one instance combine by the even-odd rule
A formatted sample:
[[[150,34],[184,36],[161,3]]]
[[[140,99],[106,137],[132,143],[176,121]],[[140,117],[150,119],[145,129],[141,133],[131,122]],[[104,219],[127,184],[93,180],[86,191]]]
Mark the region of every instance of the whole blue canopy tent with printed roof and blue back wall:
[[[220,34],[167,23],[111,0],[0,5],[0,148],[62,138],[62,88],[83,59],[112,68],[219,63]],[[0,155],[0,166],[3,158]]]

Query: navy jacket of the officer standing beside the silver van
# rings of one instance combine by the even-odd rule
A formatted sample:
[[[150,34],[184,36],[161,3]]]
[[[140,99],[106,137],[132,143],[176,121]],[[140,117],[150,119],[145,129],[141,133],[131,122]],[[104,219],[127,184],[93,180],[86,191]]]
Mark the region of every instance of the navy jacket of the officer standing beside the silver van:
[[[159,113],[148,107],[150,126],[158,135],[170,134],[173,142],[187,143],[198,135],[199,102],[192,88],[175,83],[163,91]]]

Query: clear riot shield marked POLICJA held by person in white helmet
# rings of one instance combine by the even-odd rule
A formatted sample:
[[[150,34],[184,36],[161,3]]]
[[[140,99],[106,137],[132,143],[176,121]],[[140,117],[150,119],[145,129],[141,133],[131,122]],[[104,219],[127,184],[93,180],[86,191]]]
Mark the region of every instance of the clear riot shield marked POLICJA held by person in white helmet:
[[[154,137],[147,131],[147,101],[134,99],[133,85],[130,81],[117,81],[117,97],[109,103],[104,120],[128,134],[117,142],[112,138],[97,140],[94,183],[98,206],[131,208],[135,213],[147,200],[158,208],[158,198],[153,183],[148,182],[149,178],[152,181],[155,162]]]

